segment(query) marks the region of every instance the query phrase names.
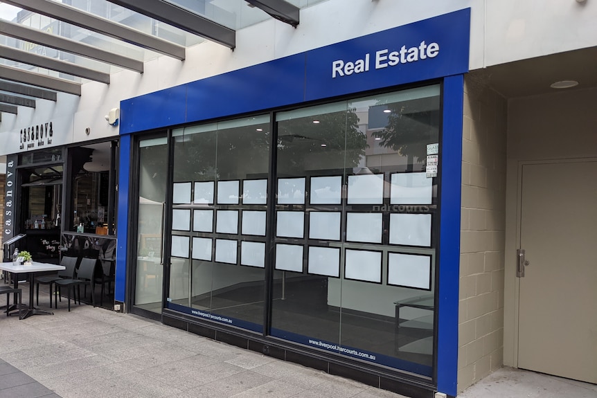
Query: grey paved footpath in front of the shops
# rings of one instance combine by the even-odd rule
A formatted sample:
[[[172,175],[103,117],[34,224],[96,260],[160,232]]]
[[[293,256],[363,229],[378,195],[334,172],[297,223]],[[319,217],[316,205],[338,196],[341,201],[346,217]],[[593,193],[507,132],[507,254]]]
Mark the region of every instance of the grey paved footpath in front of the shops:
[[[64,298],[53,316],[4,315],[0,398],[402,397],[132,314],[68,312]],[[597,386],[504,368],[458,397],[595,398]]]

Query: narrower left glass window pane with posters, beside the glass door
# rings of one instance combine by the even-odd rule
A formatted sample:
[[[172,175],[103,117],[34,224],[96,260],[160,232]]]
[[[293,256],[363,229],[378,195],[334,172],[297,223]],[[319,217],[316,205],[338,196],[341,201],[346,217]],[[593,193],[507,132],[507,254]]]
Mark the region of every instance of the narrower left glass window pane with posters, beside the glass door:
[[[172,136],[170,305],[262,332],[269,116]]]

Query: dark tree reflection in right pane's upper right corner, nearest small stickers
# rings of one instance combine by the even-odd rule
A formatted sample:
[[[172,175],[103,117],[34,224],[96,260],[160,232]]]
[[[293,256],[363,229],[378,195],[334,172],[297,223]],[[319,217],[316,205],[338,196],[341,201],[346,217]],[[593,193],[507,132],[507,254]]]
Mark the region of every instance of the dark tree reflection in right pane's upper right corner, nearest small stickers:
[[[388,124],[372,135],[381,138],[382,147],[407,156],[407,170],[413,170],[414,162],[425,162],[427,144],[438,142],[439,97],[394,102],[386,107],[391,111]]]

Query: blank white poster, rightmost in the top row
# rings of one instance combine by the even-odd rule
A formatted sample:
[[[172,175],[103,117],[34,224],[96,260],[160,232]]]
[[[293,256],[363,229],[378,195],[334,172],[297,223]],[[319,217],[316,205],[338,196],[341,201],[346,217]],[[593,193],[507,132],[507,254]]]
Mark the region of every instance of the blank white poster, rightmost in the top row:
[[[391,204],[431,204],[433,179],[425,173],[392,174]]]

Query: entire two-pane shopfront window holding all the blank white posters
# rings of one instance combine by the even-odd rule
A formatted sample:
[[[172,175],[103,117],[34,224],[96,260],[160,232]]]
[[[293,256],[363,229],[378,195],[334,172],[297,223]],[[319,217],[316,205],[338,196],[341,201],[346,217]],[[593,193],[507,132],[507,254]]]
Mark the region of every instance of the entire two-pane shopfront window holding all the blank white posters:
[[[168,307],[432,377],[439,84],[274,118],[173,130]]]

